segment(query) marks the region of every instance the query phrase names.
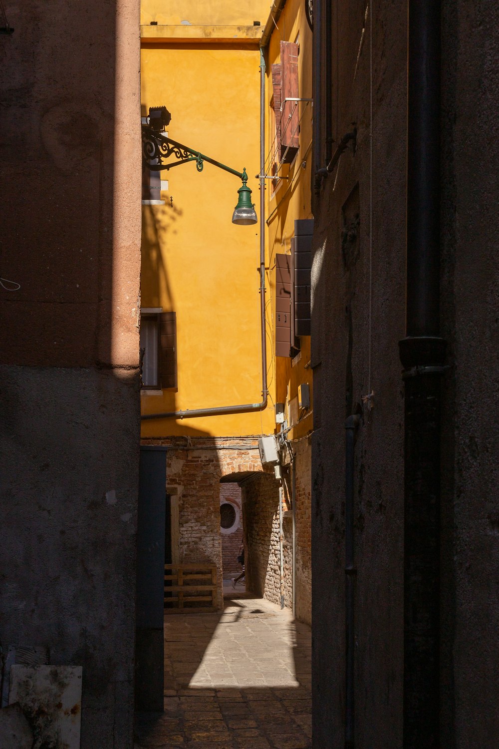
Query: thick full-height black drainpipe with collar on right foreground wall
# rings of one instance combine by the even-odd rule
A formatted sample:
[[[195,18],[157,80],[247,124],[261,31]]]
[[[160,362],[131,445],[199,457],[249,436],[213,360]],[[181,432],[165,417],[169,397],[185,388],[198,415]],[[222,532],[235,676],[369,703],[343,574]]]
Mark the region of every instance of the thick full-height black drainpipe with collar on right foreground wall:
[[[408,0],[404,749],[439,740],[440,0]]]

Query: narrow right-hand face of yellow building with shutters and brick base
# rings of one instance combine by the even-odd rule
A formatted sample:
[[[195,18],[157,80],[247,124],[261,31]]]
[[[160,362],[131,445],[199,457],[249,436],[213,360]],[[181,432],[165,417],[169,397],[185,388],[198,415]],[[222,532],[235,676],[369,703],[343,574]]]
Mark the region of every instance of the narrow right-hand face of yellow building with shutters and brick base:
[[[293,529],[293,610],[311,622],[310,437],[313,430],[310,369],[310,272],[313,216],[312,32],[305,3],[275,3],[266,44],[266,248],[272,298],[276,403],[284,405]],[[264,38],[264,41],[266,38]],[[290,318],[287,319],[289,311]]]

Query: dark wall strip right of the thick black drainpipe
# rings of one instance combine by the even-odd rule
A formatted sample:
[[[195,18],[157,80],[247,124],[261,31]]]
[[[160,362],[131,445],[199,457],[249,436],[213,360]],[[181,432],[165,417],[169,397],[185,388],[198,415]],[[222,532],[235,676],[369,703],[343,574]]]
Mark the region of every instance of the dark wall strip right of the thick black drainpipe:
[[[443,3],[442,745],[499,735],[499,10]]]

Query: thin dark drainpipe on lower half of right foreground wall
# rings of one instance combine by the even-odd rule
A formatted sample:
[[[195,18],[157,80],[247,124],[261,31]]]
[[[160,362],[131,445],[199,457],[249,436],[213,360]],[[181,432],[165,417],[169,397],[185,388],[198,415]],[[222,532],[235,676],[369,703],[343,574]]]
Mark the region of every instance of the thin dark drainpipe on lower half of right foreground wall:
[[[355,437],[361,417],[349,416],[345,422],[345,749],[354,748],[355,690],[354,690],[354,451]]]

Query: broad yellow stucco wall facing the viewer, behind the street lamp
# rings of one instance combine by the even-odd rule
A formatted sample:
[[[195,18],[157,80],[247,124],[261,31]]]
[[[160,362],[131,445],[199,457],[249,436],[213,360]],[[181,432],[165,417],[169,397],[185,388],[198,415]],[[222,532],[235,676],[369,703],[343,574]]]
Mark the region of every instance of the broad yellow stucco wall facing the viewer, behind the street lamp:
[[[172,115],[171,138],[238,171],[246,167],[258,207],[256,45],[149,43],[142,49],[141,75],[142,115],[149,106],[164,104]],[[189,163],[162,172],[162,179],[168,180],[168,190],[162,192],[165,205],[143,207],[141,306],[177,313],[178,390],[143,393],[142,412],[257,403],[260,224],[232,224],[241,182],[209,163],[200,174]],[[142,436],[261,434],[274,425],[269,408],[264,413],[142,422]]]

